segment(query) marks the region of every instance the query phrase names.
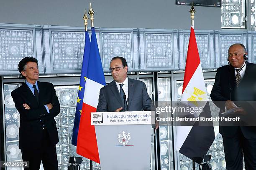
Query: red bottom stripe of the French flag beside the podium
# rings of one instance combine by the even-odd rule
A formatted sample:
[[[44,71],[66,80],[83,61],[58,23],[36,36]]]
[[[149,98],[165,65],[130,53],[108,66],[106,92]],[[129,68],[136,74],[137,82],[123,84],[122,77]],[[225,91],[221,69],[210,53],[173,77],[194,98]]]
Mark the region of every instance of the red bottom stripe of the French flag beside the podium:
[[[81,119],[77,138],[77,154],[87,153],[86,158],[100,163],[98,145],[94,125],[91,125],[91,112],[96,112],[96,108],[83,103]]]

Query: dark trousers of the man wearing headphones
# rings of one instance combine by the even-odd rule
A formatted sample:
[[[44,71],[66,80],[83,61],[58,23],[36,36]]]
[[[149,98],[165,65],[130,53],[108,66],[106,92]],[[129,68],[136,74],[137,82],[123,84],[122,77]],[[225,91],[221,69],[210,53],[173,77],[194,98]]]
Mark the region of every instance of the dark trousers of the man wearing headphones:
[[[256,170],[256,139],[246,139],[239,128],[238,133],[228,138],[222,136],[227,170]]]

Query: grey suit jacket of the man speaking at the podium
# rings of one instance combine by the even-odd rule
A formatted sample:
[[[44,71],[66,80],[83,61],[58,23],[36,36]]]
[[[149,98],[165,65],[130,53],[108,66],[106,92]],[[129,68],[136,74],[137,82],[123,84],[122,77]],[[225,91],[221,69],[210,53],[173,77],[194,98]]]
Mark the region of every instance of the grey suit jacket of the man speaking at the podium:
[[[97,112],[114,112],[123,107],[120,92],[115,81],[100,89]],[[148,96],[144,82],[128,78],[128,111],[153,110],[152,100]]]

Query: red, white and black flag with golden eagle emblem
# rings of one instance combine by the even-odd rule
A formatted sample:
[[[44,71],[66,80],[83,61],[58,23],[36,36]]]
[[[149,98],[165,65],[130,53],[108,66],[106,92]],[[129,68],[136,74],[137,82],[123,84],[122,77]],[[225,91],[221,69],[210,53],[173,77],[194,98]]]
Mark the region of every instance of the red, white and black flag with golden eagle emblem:
[[[181,100],[195,105],[200,103],[203,109],[196,116],[211,117],[194,25],[190,30]],[[207,126],[199,126],[198,122],[193,126],[177,126],[176,134],[176,150],[192,160],[195,160],[195,157],[203,157],[215,139],[212,122]]]

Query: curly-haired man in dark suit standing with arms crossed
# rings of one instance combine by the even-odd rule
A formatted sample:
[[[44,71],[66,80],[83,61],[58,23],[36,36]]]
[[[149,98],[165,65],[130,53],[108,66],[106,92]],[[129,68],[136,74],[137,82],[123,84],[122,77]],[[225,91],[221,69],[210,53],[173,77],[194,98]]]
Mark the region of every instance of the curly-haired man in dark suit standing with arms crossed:
[[[22,160],[29,162],[28,170],[39,170],[41,161],[45,170],[58,170],[55,145],[59,137],[54,117],[59,114],[60,105],[56,91],[51,83],[37,81],[36,58],[23,58],[18,70],[26,80],[11,96],[20,113]]]

